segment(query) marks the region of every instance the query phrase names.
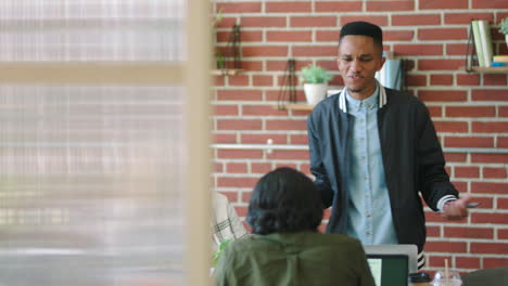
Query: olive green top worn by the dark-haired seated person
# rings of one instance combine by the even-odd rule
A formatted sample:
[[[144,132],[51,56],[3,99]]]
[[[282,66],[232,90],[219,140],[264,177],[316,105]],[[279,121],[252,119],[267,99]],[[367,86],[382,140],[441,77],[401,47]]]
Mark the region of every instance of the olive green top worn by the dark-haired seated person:
[[[253,235],[232,242],[214,273],[215,285],[358,285],[374,282],[360,243],[313,232]]]

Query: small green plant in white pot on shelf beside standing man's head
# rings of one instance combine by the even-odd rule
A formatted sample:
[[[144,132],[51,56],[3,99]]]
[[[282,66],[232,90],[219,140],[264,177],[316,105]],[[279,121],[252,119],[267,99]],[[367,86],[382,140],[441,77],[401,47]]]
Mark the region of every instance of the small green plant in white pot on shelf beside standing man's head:
[[[333,77],[328,70],[317,66],[308,65],[302,68],[300,81],[304,83],[305,98],[308,104],[316,104],[327,95],[328,81]]]

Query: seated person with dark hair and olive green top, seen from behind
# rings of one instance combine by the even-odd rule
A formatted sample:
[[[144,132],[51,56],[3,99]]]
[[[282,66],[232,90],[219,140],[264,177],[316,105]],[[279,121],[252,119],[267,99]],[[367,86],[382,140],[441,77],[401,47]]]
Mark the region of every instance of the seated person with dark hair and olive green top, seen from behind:
[[[267,173],[249,203],[254,235],[224,249],[215,284],[373,286],[361,244],[319,233],[321,219],[319,193],[305,174],[290,168]]]

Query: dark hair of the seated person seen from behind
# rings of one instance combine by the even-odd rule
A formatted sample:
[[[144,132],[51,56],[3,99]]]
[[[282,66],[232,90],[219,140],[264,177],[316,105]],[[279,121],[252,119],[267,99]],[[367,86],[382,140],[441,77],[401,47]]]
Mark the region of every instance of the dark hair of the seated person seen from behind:
[[[254,187],[246,221],[255,234],[317,231],[322,219],[318,190],[304,173],[279,168]]]

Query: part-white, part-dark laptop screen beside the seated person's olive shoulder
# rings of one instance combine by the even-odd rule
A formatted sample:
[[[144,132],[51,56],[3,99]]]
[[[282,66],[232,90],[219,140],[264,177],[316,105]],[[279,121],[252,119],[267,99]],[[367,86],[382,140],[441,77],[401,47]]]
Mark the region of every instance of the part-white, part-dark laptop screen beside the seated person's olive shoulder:
[[[367,255],[376,286],[407,286],[407,256]]]

